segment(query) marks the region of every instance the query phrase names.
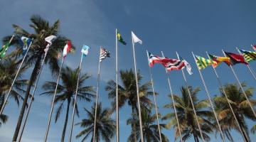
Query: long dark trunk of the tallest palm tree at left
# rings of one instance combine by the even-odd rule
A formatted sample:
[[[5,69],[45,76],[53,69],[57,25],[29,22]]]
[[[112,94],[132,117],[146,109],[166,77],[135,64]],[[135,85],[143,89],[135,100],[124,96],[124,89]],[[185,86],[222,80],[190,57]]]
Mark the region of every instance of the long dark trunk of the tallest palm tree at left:
[[[22,107],[21,107],[21,112],[18,116],[18,121],[17,121],[16,129],[14,131],[13,141],[17,141],[18,132],[21,128],[21,123],[22,123],[23,115],[24,115],[26,105],[27,105],[27,102],[28,102],[28,97],[29,97],[29,94],[30,94],[30,90],[31,90],[31,87],[33,85],[33,82],[35,82],[36,77],[38,75],[38,68],[40,66],[40,63],[41,63],[41,56],[39,56],[37,58],[36,64],[33,68],[33,72],[31,74],[31,77],[30,77],[29,81],[28,81],[28,86],[27,86],[27,89],[26,89],[26,95],[25,95],[24,100],[23,100],[23,104],[22,104]]]

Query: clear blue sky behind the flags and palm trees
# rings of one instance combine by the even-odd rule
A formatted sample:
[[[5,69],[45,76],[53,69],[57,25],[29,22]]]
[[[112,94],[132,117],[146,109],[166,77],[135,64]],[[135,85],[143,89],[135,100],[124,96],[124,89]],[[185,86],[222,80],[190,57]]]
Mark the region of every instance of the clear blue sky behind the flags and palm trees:
[[[146,49],[154,55],[161,55],[161,51],[169,58],[176,58],[176,51],[191,63],[193,75],[188,76],[188,83],[193,87],[201,87],[202,91],[198,94],[200,99],[206,99],[206,92],[203,88],[196,64],[193,61],[191,51],[196,55],[206,56],[208,53],[222,56],[221,49],[237,53],[235,47],[251,50],[250,44],[256,44],[256,1],[247,0],[226,0],[226,1],[89,1],[89,0],[8,0],[0,1],[0,38],[5,35],[11,35],[14,29],[11,24],[31,31],[29,28],[29,18],[33,14],[39,14],[46,18],[50,23],[60,19],[60,34],[63,34],[73,41],[77,47],[75,55],[68,55],[64,64],[70,67],[78,67],[80,61],[80,48],[82,44],[90,46],[90,53],[82,63],[82,72],[88,72],[92,77],[85,85],[96,86],[97,62],[100,45],[104,46],[112,53],[112,58],[104,60],[100,72],[100,102],[104,107],[110,107],[110,99],[107,99],[105,84],[108,80],[114,80],[115,77],[115,28],[119,29],[127,45],[119,44],[119,69],[134,69],[131,48],[131,31],[137,34],[143,40],[142,45],[136,45],[137,68],[144,76],[144,82],[150,80],[149,67],[146,59]],[[256,70],[256,62],[250,64],[253,70]],[[247,82],[249,87],[255,87],[255,80],[247,71],[245,65],[235,65],[235,71],[240,81]],[[226,65],[220,65],[217,72],[223,83],[235,82],[231,70]],[[28,79],[31,70],[23,75]],[[212,67],[203,70],[206,84],[210,95],[213,97],[218,92],[218,82],[213,74]],[[161,114],[166,114],[171,110],[164,109],[164,104],[171,102],[167,97],[169,88],[166,80],[166,73],[161,65],[155,65],[153,68],[153,77],[156,92],[159,92],[157,103]],[[180,94],[179,87],[184,84],[181,71],[169,73],[174,94]],[[23,141],[42,141],[46,131],[47,118],[50,111],[51,97],[39,96],[42,89],[41,85],[52,80],[48,67],[43,68],[39,87],[36,91],[35,101],[28,118],[28,124],[23,133]],[[255,96],[254,96],[255,98]],[[80,107],[80,118],[75,117],[75,123],[85,118],[85,111],[82,107],[90,109],[92,102],[78,102]],[[6,106],[4,113],[9,115],[9,121],[0,128],[0,139],[3,142],[11,141],[18,119],[20,107],[11,101]],[[63,111],[64,112],[64,111]],[[130,133],[130,126],[126,125],[126,119],[131,114],[129,107],[120,109],[120,138],[126,141]],[[71,114],[71,111],[70,111]],[[63,129],[63,118],[55,124],[54,121],[50,127],[48,141],[60,141]],[[114,116],[113,116],[114,118]],[[70,119],[71,120],[71,119]],[[166,121],[164,121],[166,122]],[[255,125],[255,122],[247,121],[247,125]],[[70,122],[68,124],[68,132]],[[73,141],[75,135],[81,131],[79,126],[74,127]],[[165,130],[164,133],[170,141],[174,141],[174,131]],[[232,131],[236,141],[242,141],[242,137],[236,131]],[[256,136],[250,134],[251,139]],[[113,139],[115,141],[115,139]],[[193,141],[191,138],[190,141]],[[211,135],[211,141],[220,141]]]

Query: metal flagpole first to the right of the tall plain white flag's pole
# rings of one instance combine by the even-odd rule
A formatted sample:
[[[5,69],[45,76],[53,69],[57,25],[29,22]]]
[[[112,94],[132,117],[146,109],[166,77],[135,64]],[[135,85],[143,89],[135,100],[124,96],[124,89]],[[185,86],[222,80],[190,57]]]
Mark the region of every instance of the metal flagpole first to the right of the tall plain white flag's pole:
[[[149,52],[148,52],[147,50],[146,50],[146,55],[147,55],[148,62],[149,62]],[[152,69],[151,69],[151,67],[149,67],[149,73],[150,73],[151,86],[152,86],[153,97],[154,97],[154,106],[155,106],[155,109],[156,109],[156,120],[157,120],[158,129],[159,129],[159,138],[160,138],[160,142],[161,142],[161,128],[160,128],[160,124],[159,124],[159,113],[158,113],[158,110],[157,110],[156,94],[155,94],[155,92],[154,92],[154,82],[153,82]]]

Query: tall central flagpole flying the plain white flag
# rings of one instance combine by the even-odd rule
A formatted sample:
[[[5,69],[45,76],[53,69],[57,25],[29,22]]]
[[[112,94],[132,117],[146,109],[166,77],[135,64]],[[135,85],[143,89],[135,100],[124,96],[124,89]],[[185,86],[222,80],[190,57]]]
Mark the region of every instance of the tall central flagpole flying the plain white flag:
[[[136,65],[136,56],[135,56],[133,38],[132,38],[132,52],[133,52],[133,58],[134,58],[134,70],[135,70],[135,79],[136,79],[136,87],[137,87],[137,103],[138,103],[138,109],[139,109],[139,129],[140,129],[141,141],[144,142],[143,130],[142,130],[142,114],[141,114],[141,107],[140,107],[140,101],[139,101],[139,85],[138,85],[137,67],[136,67],[137,65]]]

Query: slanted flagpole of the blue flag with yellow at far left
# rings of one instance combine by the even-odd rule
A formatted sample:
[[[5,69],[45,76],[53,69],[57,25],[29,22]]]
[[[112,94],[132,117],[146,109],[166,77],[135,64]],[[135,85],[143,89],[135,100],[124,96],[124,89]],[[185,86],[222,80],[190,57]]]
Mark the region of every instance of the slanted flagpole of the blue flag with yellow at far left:
[[[12,35],[11,40],[13,40],[13,38],[14,38],[14,35]],[[9,41],[9,43],[11,43],[11,40]],[[32,42],[33,42],[33,39],[32,39]],[[28,50],[30,49],[32,42],[29,44]],[[9,92],[8,92],[8,94],[7,94],[7,96],[6,96],[6,99],[4,100],[4,104],[3,104],[2,107],[1,107],[0,116],[1,116],[1,114],[3,113],[3,111],[4,111],[4,107],[6,106],[6,102],[7,102],[7,100],[9,99],[9,95],[10,95],[10,93],[11,93],[11,89],[14,87],[14,83],[15,83],[15,81],[16,81],[16,78],[18,77],[18,72],[21,70],[21,67],[22,67],[23,62],[24,62],[24,60],[25,60],[25,58],[26,58],[26,55],[28,54],[28,50],[26,51],[26,54],[24,55],[24,57],[23,57],[23,59],[22,59],[22,61],[21,61],[21,65],[18,67],[18,71],[17,71],[17,73],[16,73],[16,75],[15,75],[15,77],[14,77],[14,80],[13,80],[13,82],[11,83],[11,87],[10,87],[10,89],[9,89]]]

